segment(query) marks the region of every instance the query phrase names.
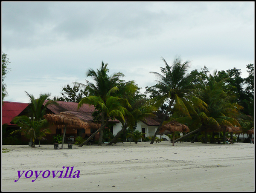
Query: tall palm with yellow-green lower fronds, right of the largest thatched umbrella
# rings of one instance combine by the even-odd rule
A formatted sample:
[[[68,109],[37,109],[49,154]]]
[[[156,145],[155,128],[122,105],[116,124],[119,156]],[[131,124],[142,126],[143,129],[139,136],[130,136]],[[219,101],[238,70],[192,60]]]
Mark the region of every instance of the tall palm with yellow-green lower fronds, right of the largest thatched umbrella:
[[[102,61],[100,69],[94,71],[89,69],[87,71],[87,77],[93,78],[95,83],[87,81],[87,84],[75,83],[79,86],[85,87],[89,96],[82,98],[79,102],[78,108],[82,104],[94,105],[96,110],[101,112],[100,121],[102,124],[102,129],[99,135],[99,144],[102,144],[103,137],[103,126],[107,125],[111,118],[117,118],[120,121],[124,121],[124,114],[127,110],[122,106],[125,100],[119,97],[113,96],[118,91],[119,78],[124,76],[121,72],[114,73],[113,75],[108,75],[108,63]]]

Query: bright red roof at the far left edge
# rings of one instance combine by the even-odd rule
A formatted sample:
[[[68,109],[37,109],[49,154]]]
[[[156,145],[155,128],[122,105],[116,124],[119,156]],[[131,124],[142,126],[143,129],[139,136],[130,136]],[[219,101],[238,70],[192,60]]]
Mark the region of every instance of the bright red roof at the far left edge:
[[[20,114],[21,111],[23,111],[29,103],[17,103],[17,102],[8,102],[3,101],[2,105],[2,125],[11,124],[11,121],[13,118],[15,118],[17,115]]]

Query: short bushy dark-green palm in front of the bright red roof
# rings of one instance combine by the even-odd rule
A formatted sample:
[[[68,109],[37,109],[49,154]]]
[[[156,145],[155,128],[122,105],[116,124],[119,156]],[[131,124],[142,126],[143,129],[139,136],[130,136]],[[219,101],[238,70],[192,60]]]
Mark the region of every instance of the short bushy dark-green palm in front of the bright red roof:
[[[50,133],[49,129],[43,128],[48,126],[48,122],[46,119],[41,121],[31,120],[31,117],[27,117],[25,115],[15,117],[12,120],[17,126],[20,126],[20,129],[13,131],[13,133],[24,133],[26,138],[32,139],[32,146],[35,147],[35,139],[40,138],[41,136]],[[40,142],[39,142],[40,143]]]

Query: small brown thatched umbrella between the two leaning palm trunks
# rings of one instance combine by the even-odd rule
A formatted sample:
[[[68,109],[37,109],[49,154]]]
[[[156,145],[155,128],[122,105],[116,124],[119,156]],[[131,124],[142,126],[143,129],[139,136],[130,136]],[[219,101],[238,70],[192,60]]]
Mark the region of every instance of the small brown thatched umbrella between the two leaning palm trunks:
[[[172,145],[174,146],[174,132],[189,132],[189,127],[179,123],[178,121],[170,121],[168,124],[165,124],[160,127],[160,130],[158,134],[163,135],[163,134],[171,134],[173,133],[173,140],[172,140]]]

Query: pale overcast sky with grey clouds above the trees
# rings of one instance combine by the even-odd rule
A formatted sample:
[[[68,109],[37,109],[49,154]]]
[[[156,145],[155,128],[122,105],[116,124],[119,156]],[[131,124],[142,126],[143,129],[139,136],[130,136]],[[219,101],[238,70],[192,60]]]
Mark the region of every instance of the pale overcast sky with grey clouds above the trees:
[[[176,57],[188,73],[206,66],[241,69],[254,64],[254,2],[2,2],[2,52],[10,68],[4,101],[29,103],[42,93],[86,84],[88,69],[108,63],[110,75],[156,84]],[[25,92],[26,91],[26,92]]]

